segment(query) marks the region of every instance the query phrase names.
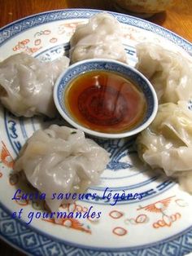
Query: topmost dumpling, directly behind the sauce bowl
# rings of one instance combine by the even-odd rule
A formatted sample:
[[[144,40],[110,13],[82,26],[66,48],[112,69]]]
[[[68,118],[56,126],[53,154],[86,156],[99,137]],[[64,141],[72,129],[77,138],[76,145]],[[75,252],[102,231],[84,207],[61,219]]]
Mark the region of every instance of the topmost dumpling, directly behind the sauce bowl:
[[[70,46],[72,63],[93,58],[127,61],[120,23],[104,12],[91,17],[88,24],[79,25]]]

